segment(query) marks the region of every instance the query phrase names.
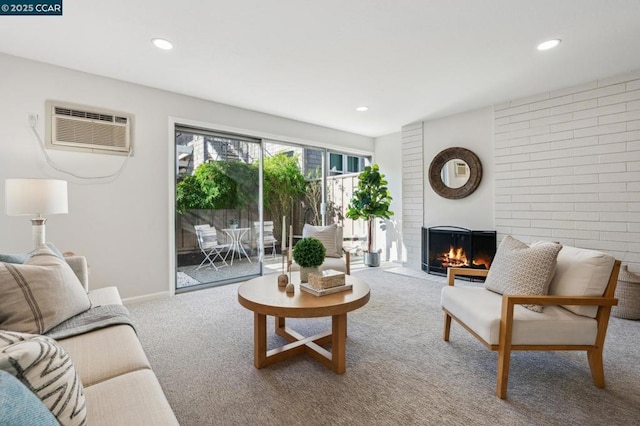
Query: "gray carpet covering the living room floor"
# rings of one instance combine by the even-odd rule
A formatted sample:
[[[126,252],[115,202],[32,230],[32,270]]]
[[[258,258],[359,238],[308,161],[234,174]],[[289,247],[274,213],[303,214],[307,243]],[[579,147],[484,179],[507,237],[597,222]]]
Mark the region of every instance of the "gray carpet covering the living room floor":
[[[398,272],[398,271],[396,271]],[[401,272],[401,271],[400,271]],[[640,322],[612,318],[607,388],[582,352],[516,352],[508,399],[494,396],[495,352],[453,324],[442,341],[442,279],[382,269],[355,276],[371,300],[349,314],[347,371],[306,355],[253,366],[253,314],[237,284],[130,305],[151,365],[182,425],[634,425]],[[315,333],[329,319],[288,320]],[[282,344],[268,323],[270,347]]]

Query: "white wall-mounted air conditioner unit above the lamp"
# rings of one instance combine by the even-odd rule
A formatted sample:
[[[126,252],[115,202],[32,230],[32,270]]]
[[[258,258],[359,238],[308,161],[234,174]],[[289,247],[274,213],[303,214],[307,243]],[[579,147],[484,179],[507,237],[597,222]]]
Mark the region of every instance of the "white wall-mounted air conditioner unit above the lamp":
[[[128,155],[133,115],[95,107],[46,101],[48,148]]]

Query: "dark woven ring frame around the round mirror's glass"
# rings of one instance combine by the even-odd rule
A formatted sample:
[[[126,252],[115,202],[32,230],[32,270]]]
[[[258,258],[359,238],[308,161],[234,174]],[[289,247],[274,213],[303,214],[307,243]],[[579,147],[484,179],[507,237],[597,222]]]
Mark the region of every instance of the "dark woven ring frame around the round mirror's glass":
[[[442,168],[451,160],[462,160],[469,166],[469,180],[460,188],[449,188],[442,182]],[[429,183],[436,194],[450,200],[468,197],[482,180],[482,163],[476,154],[466,148],[452,147],[440,151],[429,166]]]

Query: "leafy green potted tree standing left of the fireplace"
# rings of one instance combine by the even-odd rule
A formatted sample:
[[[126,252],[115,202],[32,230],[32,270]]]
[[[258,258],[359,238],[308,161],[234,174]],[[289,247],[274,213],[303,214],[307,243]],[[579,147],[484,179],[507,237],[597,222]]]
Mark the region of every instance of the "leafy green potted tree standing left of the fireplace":
[[[349,219],[367,221],[367,250],[364,253],[364,264],[367,266],[380,266],[381,250],[373,250],[374,219],[393,216],[389,210],[392,198],[387,183],[377,164],[366,166],[358,175],[358,187],[354,189],[347,207],[346,216]]]

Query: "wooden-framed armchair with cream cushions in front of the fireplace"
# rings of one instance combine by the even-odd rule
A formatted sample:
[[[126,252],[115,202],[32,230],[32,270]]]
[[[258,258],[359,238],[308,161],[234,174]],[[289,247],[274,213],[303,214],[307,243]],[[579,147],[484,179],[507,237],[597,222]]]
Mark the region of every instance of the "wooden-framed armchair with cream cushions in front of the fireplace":
[[[479,286],[455,286],[456,275],[487,276],[487,270],[450,268],[442,290],[443,339],[451,320],[490,350],[498,351],[496,395],[507,397],[511,351],[586,351],[594,384],[605,387],[602,350],[620,261],[593,250],[563,247],[548,295],[500,295]],[[523,305],[543,306],[542,313]]]

